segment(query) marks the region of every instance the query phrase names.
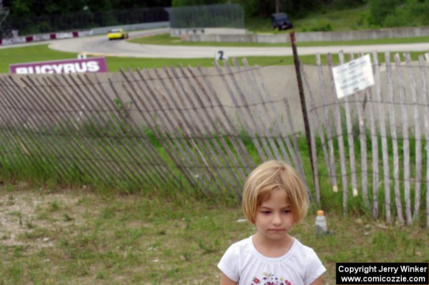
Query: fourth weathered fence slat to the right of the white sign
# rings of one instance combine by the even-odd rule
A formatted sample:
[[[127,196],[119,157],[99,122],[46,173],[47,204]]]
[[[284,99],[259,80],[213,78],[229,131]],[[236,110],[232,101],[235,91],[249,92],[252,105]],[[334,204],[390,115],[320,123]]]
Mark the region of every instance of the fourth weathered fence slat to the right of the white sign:
[[[417,86],[414,79],[413,67],[411,64],[411,56],[409,52],[404,54],[405,62],[408,66],[408,75],[411,82],[411,96],[414,104],[414,141],[415,141],[415,190],[414,190],[414,213],[413,218],[417,218],[420,213],[420,189],[421,189],[421,131],[420,119],[417,101]],[[426,120],[429,120],[426,117]]]

